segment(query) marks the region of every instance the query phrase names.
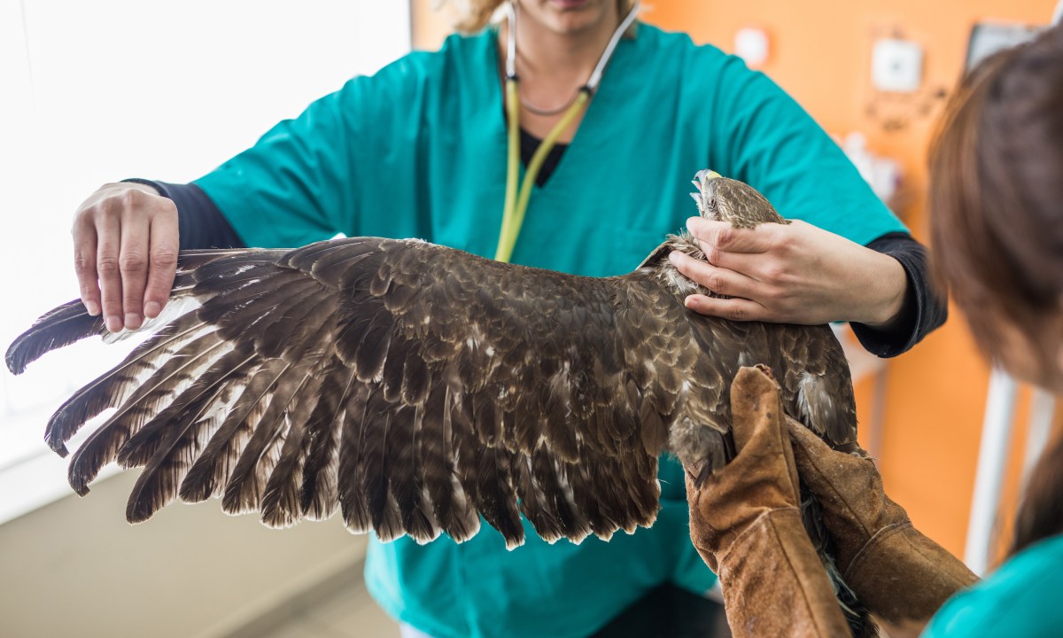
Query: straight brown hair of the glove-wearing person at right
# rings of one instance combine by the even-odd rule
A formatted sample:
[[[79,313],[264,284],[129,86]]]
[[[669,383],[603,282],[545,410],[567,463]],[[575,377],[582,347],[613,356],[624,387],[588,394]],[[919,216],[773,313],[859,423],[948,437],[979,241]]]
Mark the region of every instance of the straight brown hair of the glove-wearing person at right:
[[[930,151],[933,267],[979,348],[1033,353],[1063,374],[1063,28],[983,61],[961,83]],[[1037,464],[1012,551],[1063,533],[1063,444]]]

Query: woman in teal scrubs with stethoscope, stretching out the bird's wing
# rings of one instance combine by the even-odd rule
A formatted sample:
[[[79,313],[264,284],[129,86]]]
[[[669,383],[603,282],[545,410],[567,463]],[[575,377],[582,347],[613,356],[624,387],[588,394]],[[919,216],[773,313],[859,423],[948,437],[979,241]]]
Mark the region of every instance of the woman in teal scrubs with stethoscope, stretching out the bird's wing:
[[[848,320],[880,356],[944,320],[924,249],[811,117],[741,60],[627,27],[630,0],[521,0],[516,29],[489,23],[500,0],[467,4],[463,34],[440,51],[351,80],[199,180],[132,180],[92,194],[73,222],[89,312],[113,331],[157,315],[179,247],[294,247],[337,233],[421,237],[485,256],[510,242],[513,263],[619,274],[695,214],[689,180],[708,167],[796,221],[745,232],[691,222],[709,263],[680,268],[731,297],[691,298],[694,310]],[[522,187],[529,165],[537,173]],[[714,604],[701,597],[715,576],[686,541],[681,468],[665,460],[660,477],[651,530],[551,547],[526,525],[527,543],[512,552],[487,525],[461,545],[374,541],[367,585],[409,636],[702,632]]]

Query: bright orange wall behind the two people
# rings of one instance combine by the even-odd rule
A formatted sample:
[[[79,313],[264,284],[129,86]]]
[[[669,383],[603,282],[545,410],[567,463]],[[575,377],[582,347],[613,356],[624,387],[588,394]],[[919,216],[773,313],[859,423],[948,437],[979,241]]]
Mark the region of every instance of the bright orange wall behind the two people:
[[[412,3],[415,44],[420,48],[436,46],[446,33],[446,19],[428,10],[432,3]],[[1054,4],[1054,0],[746,0],[736,7],[723,0],[646,0],[643,19],[725,50],[731,48],[738,29],[765,30],[771,54],[764,72],[828,132],[861,131],[871,150],[901,163],[906,195],[899,213],[925,240],[926,150],[941,110],[938,95],[951,90],[959,77],[971,27],[990,19],[1045,23]],[[901,36],[924,47],[923,88],[914,97],[876,94],[872,88],[872,43],[881,36]],[[880,455],[887,488],[917,526],[954,553],[962,553],[986,366],[954,312],[943,329],[891,360],[888,374]],[[859,392],[865,423],[868,391],[865,387]],[[1018,432],[1013,458],[1023,444]],[[1014,471],[1010,475],[1011,492],[1015,475]]]

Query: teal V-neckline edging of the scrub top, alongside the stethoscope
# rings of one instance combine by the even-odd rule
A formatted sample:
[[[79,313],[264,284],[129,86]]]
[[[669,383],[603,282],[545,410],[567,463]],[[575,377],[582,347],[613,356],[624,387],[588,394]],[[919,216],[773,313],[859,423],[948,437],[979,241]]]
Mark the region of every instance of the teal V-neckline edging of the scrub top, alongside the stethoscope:
[[[636,21],[636,35],[634,37],[623,37],[617,44],[617,48],[612,53],[612,58],[606,66],[605,71],[602,73],[602,81],[598,83],[597,89],[591,96],[590,101],[587,103],[587,110],[584,112],[584,117],[579,122],[579,127],[576,128],[576,134],[572,136],[572,140],[566,145],[564,153],[561,154],[557,166],[554,168],[554,172],[551,174],[550,179],[542,186],[538,184],[532,185],[532,202],[528,204],[529,208],[535,204],[535,194],[542,192],[544,190],[563,190],[564,183],[568,181],[569,171],[566,167],[570,164],[579,164],[577,161],[572,161],[572,154],[577,153],[581,155],[581,151],[587,147],[595,147],[594,139],[597,136],[597,131],[601,128],[597,123],[598,117],[597,112],[605,106],[597,105],[600,102],[608,104],[611,102],[612,95],[612,84],[615,82],[610,82],[610,75],[615,80],[617,72],[611,72],[617,67],[622,67],[628,56],[631,46],[638,40],[638,32],[645,27],[640,21]],[[503,146],[503,154],[505,156],[505,145],[508,144],[508,132],[506,130],[506,110],[504,104],[505,96],[505,85],[502,82],[502,78],[499,74],[499,69],[502,68],[502,57],[499,55],[499,30],[497,28],[490,30],[491,36],[488,38],[489,46],[491,48],[491,57],[493,64],[490,68],[489,81],[494,85],[494,90],[491,95],[494,96],[494,112],[499,114],[495,118],[496,135],[495,139],[500,139]],[[521,166],[520,180],[524,179],[524,169],[526,167]],[[560,185],[558,185],[560,184]]]

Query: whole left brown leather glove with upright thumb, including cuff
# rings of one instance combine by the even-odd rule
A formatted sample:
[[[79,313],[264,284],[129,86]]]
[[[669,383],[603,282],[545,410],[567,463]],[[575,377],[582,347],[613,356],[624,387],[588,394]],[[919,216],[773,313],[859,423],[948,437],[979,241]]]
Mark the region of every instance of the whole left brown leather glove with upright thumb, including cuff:
[[[802,524],[797,470],[778,385],[742,368],[731,385],[738,455],[695,486],[687,469],[690,537],[720,576],[727,621],[742,636],[849,636]]]

